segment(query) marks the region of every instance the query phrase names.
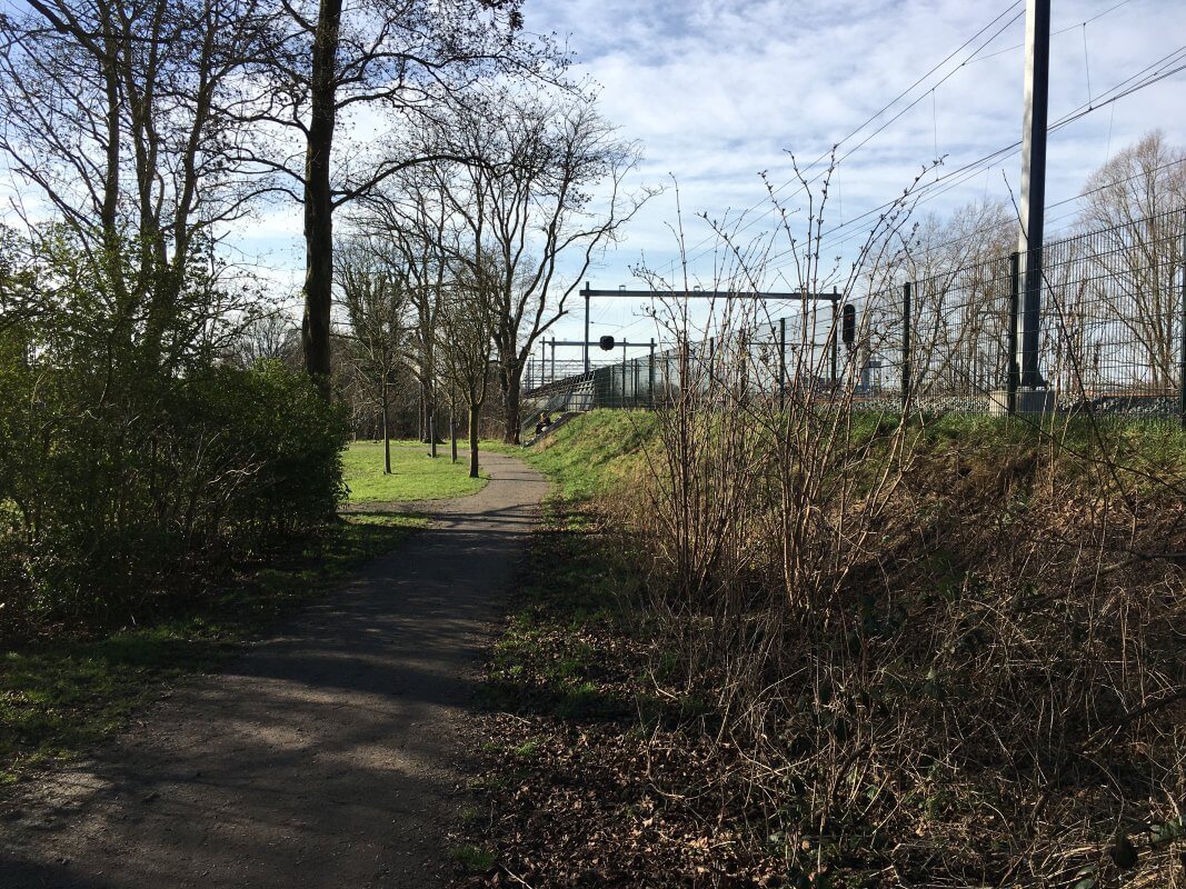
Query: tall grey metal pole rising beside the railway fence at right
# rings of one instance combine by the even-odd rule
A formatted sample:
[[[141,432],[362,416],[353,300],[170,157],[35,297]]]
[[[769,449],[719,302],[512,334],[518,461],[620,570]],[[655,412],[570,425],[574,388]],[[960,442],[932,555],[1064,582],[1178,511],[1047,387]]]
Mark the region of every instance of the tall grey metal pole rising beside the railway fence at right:
[[[1038,389],[1041,324],[1042,237],[1046,209],[1046,109],[1050,98],[1050,0],[1026,0],[1026,83],[1021,130],[1021,236],[1025,251],[1025,301],[1021,309],[1019,364],[1021,386]]]

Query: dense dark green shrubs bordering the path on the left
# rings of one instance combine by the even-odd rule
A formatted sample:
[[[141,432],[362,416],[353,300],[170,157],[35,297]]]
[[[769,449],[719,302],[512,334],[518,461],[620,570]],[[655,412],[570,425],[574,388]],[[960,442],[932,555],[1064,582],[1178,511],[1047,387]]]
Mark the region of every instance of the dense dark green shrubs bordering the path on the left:
[[[0,635],[134,614],[333,514],[345,423],[306,377],[121,358],[46,366],[2,335]]]

